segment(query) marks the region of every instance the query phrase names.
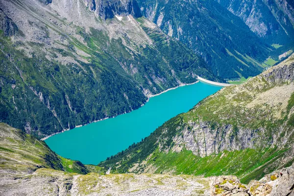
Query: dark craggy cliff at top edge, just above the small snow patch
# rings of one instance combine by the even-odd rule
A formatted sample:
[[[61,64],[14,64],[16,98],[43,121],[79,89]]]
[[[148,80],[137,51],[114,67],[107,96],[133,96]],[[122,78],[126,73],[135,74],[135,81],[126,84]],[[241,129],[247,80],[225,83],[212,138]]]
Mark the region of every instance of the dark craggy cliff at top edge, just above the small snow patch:
[[[136,0],[84,0],[85,5],[97,16],[106,20],[115,15],[132,15],[141,17],[140,7]]]

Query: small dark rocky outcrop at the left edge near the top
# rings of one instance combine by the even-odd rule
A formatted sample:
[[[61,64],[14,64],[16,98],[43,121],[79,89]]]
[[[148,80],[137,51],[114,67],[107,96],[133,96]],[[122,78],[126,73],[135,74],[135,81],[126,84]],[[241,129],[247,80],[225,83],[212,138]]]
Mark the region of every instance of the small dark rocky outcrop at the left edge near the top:
[[[12,36],[18,31],[17,25],[0,8],[0,29],[5,36]]]

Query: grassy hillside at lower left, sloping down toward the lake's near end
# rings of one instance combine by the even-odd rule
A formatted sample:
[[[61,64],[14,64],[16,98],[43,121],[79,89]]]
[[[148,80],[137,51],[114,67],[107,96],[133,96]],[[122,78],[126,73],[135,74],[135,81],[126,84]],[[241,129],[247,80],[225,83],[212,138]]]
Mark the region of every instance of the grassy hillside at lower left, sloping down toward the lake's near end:
[[[0,123],[0,159],[2,172],[31,173],[49,168],[81,174],[105,173],[103,168],[60,157],[45,142],[5,123]]]

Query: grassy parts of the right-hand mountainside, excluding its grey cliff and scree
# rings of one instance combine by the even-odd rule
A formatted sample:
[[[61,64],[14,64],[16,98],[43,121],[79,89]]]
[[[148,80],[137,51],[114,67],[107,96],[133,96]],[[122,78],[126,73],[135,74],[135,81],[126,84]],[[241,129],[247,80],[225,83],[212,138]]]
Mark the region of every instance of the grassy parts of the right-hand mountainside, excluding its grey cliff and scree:
[[[286,63],[289,65],[293,61],[292,58]],[[260,178],[265,173],[281,167],[281,160],[285,157],[290,157],[285,162],[285,165],[290,165],[294,161],[291,158],[293,149],[290,147],[294,139],[294,134],[291,132],[294,114],[290,115],[289,112],[294,106],[294,93],[289,100],[286,100],[284,109],[281,109],[283,110],[281,118],[275,118],[275,111],[279,111],[279,108],[282,107],[272,107],[271,110],[268,110],[257,104],[256,107],[246,109],[245,112],[243,109],[252,100],[255,100],[258,94],[275,88],[275,85],[284,84],[269,83],[264,79],[264,76],[260,75],[251,78],[241,86],[226,87],[201,101],[188,113],[180,114],[164,123],[144,141],[101,162],[99,166],[112,167],[114,173],[171,172],[204,174],[205,176],[230,173],[240,177],[243,182],[248,182],[250,179]],[[199,120],[208,122],[213,130],[222,124],[231,124],[235,127],[233,129],[236,129],[236,134],[240,128],[258,130],[260,127],[264,127],[266,130],[263,136],[265,142],[271,140],[271,132],[274,133],[277,131],[277,127],[282,126],[284,131],[279,135],[280,141],[283,140],[285,134],[288,135],[289,140],[286,146],[272,145],[256,149],[223,151],[206,157],[199,157],[185,148],[180,152],[170,150],[166,153],[162,150],[171,149],[174,146],[173,138],[181,135],[181,130],[184,128],[189,130],[188,122],[197,123]],[[277,159],[279,161],[276,162]],[[280,164],[277,164],[279,162]]]

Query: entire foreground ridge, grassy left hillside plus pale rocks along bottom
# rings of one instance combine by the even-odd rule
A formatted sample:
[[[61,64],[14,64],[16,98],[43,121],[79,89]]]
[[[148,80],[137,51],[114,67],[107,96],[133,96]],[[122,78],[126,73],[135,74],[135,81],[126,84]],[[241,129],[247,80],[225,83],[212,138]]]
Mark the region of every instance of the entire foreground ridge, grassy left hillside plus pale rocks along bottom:
[[[293,171],[293,166],[284,168],[248,185],[231,175],[209,178],[147,173],[105,175],[97,166],[60,157],[44,142],[0,123],[0,195],[5,196],[215,196],[224,193],[277,196],[293,193]]]

